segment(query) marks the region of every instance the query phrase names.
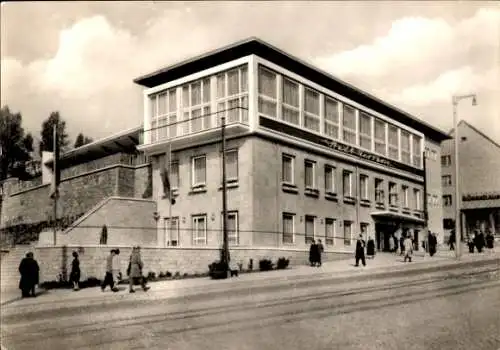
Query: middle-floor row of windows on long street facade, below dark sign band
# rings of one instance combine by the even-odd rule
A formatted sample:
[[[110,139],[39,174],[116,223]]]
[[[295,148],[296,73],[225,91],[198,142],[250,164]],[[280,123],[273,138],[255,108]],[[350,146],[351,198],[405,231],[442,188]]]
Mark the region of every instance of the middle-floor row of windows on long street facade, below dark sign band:
[[[306,159],[304,161],[304,186],[306,190],[317,190],[317,163],[313,160]],[[282,177],[283,184],[296,186],[295,184],[295,157],[288,154],[282,155]],[[336,194],[337,188],[337,169],[333,165],[325,164],[324,166],[324,186],[325,193]],[[342,171],[342,185],[344,198],[355,198],[354,193],[354,174],[352,171]],[[370,200],[369,196],[369,176],[365,174],[359,175],[359,189],[361,200]],[[399,190],[395,182],[388,182],[389,190],[389,205],[399,205]],[[376,203],[385,203],[385,185],[384,180],[380,178],[374,179],[374,198]],[[401,186],[402,206],[403,208],[410,207],[409,187]],[[413,189],[413,209],[421,210],[421,191],[418,188]]]

